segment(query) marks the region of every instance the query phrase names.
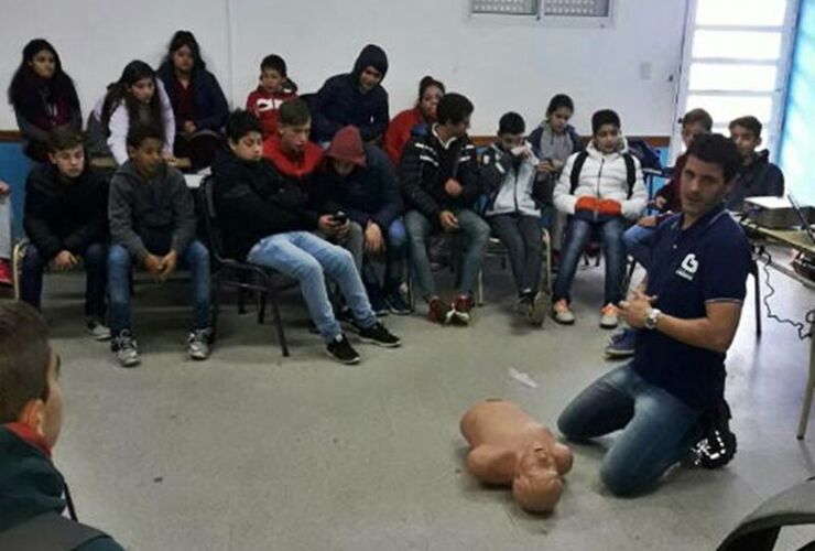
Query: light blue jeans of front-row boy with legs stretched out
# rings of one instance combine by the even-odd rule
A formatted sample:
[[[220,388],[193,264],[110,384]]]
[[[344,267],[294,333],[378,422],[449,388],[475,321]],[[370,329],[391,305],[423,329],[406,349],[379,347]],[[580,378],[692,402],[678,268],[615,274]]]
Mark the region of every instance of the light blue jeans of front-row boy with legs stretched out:
[[[271,268],[300,282],[308,314],[326,342],[343,333],[334,316],[325,276],[337,282],[346,303],[361,327],[377,323],[354,257],[308,231],[287,231],[264,237],[249,251],[247,261]]]

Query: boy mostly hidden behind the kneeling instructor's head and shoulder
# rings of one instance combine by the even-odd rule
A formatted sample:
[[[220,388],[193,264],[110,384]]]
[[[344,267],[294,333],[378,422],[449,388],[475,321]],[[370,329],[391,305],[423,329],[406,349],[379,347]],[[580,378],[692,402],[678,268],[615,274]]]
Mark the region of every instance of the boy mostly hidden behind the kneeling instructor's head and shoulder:
[[[682,118],[682,142],[685,150],[691,147],[694,138],[702,134],[710,133],[713,119],[704,109],[691,109]],[[680,182],[682,180],[682,170],[685,166],[687,153],[682,153],[676,158],[674,172],[671,180],[663,185],[654,197],[654,206],[662,210],[656,216],[643,216],[622,234],[622,240],[626,244],[628,253],[648,271],[651,261],[651,249],[649,246],[651,235],[656,230],[656,225],[672,214],[682,212],[682,201],[680,199]],[[606,356],[616,359],[627,358],[634,354],[634,339],[637,332],[627,327],[609,337],[606,347]]]

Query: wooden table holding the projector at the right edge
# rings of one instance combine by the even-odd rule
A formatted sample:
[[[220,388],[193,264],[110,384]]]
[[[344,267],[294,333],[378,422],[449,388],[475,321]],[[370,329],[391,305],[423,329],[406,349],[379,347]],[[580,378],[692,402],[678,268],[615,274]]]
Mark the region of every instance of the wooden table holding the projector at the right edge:
[[[772,260],[772,258],[764,257],[757,252],[757,248],[763,245],[773,244],[789,247],[798,252],[803,252],[806,257],[815,258],[815,244],[809,239],[806,231],[803,229],[765,228],[756,225],[752,220],[742,220],[740,224],[750,239],[754,260],[764,262],[770,268],[773,268],[774,270],[796,280],[804,287],[815,291],[815,282],[812,280],[804,278],[789,266],[779,263]],[[812,410],[813,393],[815,393],[815,321],[809,322],[809,375],[806,379],[804,404],[801,409],[801,419],[798,420],[798,440],[803,440],[804,434],[806,434],[806,426],[809,422],[809,412]]]

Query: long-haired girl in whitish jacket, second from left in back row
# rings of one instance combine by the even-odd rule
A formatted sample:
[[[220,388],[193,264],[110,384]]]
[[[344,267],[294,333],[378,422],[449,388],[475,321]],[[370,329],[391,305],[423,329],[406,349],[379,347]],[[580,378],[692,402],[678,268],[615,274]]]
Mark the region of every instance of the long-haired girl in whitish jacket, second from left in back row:
[[[119,80],[96,104],[88,117],[88,153],[93,158],[113,155],[117,165],[128,161],[128,133],[131,126],[153,126],[162,130],[162,156],[175,163],[175,117],[164,85],[142,61],[124,66]]]

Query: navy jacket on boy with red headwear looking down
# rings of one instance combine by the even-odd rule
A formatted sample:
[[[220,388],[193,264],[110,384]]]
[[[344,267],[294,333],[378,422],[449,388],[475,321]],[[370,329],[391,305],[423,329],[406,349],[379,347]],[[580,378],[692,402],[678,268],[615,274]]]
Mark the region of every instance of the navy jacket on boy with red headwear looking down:
[[[365,144],[365,156],[366,166],[355,169],[347,177],[327,168],[320,174],[320,186],[350,219],[362,228],[372,220],[384,234],[402,214],[402,196],[388,155],[377,147]]]

